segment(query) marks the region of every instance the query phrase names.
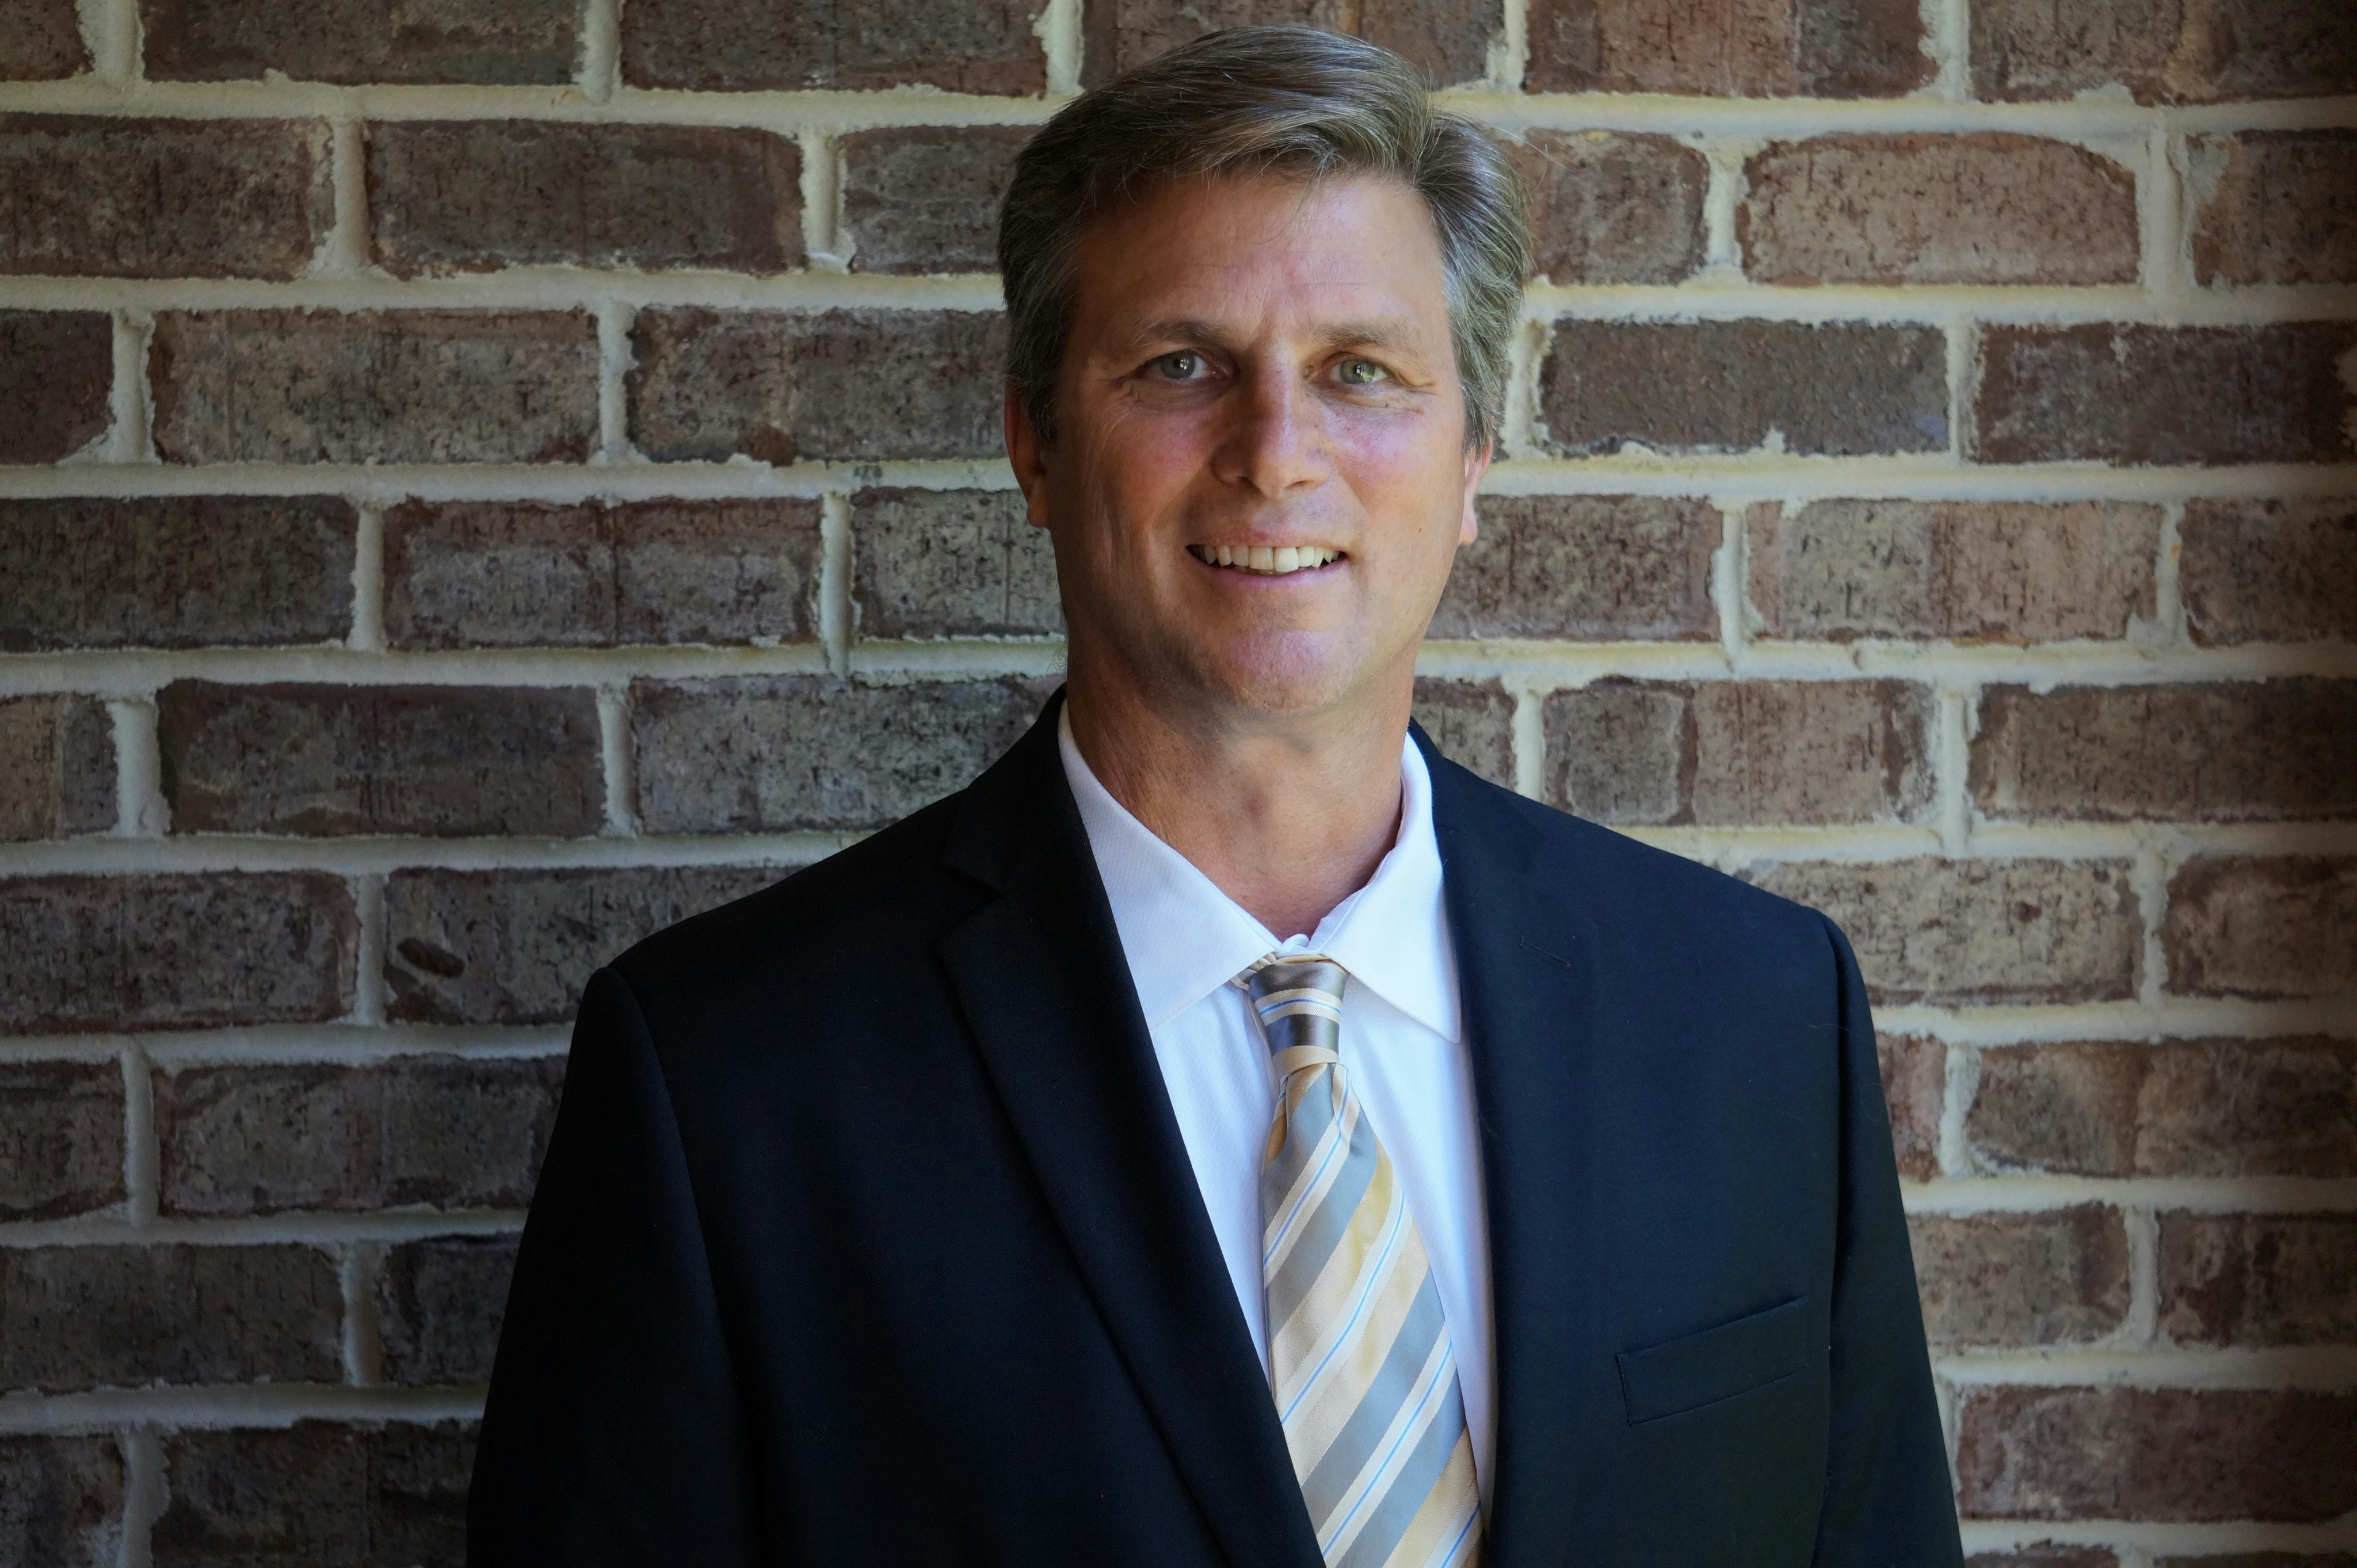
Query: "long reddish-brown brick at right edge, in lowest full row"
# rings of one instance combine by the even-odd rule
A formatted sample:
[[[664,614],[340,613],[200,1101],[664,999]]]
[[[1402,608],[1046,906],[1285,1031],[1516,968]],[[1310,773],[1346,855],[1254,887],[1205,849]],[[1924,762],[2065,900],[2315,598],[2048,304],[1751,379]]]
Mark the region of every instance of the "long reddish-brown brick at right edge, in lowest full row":
[[[1966,1519],[2324,1521],[2357,1507],[2357,1394],[1968,1389]]]

